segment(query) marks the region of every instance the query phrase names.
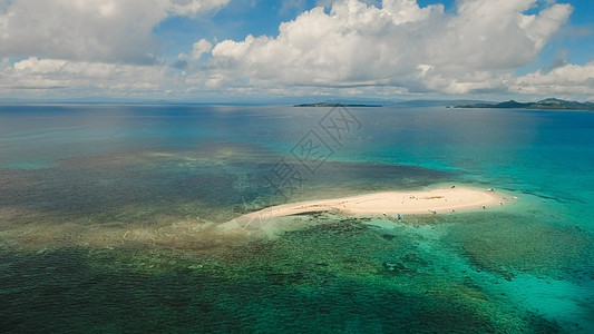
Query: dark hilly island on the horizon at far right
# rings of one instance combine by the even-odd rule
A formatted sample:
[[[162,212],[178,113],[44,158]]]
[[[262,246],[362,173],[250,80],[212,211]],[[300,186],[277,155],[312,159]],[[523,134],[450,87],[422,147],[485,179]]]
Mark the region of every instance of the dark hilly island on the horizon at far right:
[[[502,109],[549,109],[549,110],[594,110],[594,102],[567,101],[555,98],[539,100],[537,102],[518,102],[509,100],[505,102],[479,102],[459,105],[455,108],[502,108]]]

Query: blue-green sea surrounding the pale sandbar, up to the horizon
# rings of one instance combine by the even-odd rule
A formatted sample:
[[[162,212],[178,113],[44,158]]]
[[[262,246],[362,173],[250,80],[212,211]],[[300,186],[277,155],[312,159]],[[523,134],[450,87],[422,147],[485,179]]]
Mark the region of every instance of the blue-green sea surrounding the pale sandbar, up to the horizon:
[[[348,130],[327,132],[329,112],[0,106],[1,331],[594,332],[593,112],[350,108]],[[267,181],[280,161],[299,181]],[[450,184],[518,200],[213,228],[288,200]]]

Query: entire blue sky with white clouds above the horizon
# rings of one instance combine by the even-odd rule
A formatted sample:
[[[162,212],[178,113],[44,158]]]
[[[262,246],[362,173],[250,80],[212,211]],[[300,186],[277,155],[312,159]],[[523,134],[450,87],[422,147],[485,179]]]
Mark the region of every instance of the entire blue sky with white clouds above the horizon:
[[[0,101],[594,101],[592,0],[0,0]]]

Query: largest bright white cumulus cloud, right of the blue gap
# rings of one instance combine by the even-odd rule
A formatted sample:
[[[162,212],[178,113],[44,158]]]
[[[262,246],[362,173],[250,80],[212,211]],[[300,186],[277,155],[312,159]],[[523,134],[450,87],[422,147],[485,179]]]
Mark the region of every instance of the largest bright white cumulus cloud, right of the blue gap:
[[[228,80],[313,86],[392,86],[408,91],[465,94],[503,88],[530,63],[572,12],[537,0],[460,0],[441,4],[357,0],[319,7],[280,26],[279,36],[224,40],[212,62]],[[220,81],[222,85],[222,82]]]

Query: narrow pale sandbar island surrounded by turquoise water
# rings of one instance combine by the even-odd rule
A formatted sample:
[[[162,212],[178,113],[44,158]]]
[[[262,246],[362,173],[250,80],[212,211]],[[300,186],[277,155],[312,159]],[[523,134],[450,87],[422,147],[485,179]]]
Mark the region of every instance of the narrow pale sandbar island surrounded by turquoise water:
[[[402,215],[451,214],[499,207],[508,198],[493,189],[446,187],[417,191],[380,191],[342,198],[306,200],[276,205],[245,214],[218,227],[223,230],[235,227],[264,225],[267,219],[333,212],[357,217],[392,217]],[[255,223],[255,224],[253,224]]]

